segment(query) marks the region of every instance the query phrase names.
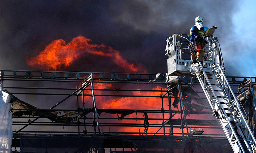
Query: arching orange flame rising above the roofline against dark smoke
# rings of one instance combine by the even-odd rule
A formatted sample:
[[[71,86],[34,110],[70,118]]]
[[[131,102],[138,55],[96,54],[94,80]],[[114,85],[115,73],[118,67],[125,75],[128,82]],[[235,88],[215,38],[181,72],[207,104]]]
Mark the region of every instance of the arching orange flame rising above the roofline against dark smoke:
[[[90,44],[91,40],[83,36],[72,39],[68,44],[63,39],[54,40],[47,45],[39,55],[30,57],[27,64],[37,68],[47,68],[56,71],[61,66],[68,67],[80,58],[80,55],[89,53],[93,55],[110,57],[112,61],[125,69],[125,72],[147,73],[147,70],[139,63],[130,63],[125,60],[120,52],[105,45]]]

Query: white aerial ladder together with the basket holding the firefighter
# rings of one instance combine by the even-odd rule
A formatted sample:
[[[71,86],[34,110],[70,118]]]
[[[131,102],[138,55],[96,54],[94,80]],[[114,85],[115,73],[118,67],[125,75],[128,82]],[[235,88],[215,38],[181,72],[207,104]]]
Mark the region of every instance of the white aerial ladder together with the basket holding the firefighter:
[[[256,140],[246,122],[242,104],[237,100],[224,71],[217,37],[203,36],[203,62],[191,61],[195,53],[190,35],[174,34],[167,38],[168,75],[197,77],[203,92],[219,120],[234,153],[256,153]]]

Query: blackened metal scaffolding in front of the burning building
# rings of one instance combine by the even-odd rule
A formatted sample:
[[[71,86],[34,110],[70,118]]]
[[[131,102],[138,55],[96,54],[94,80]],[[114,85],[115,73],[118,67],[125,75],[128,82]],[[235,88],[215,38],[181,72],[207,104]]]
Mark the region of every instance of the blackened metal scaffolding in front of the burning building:
[[[110,152],[118,152],[118,149],[113,148],[123,148],[121,151],[126,151],[124,148],[134,148],[127,142],[124,143],[124,140],[164,140],[164,147],[159,147],[165,148],[163,152],[168,152],[168,149],[170,151],[171,147],[168,148],[166,142],[173,139],[175,141],[170,144],[177,141],[193,144],[196,141],[193,138],[201,138],[197,140],[201,143],[209,143],[209,138],[215,139],[216,144],[227,142],[221,126],[212,117],[209,106],[195,109],[194,102],[189,103],[190,105],[187,102],[184,104],[188,97],[185,89],[189,86],[183,82],[153,82],[156,74],[13,70],[0,72],[3,88],[15,96],[16,101],[33,105],[29,109],[12,108],[14,148],[20,147],[21,140],[28,139],[29,136],[39,138],[39,135],[99,136],[103,138],[104,148],[110,148]],[[252,84],[256,81],[253,77],[227,79],[233,88],[248,86],[241,85],[245,80],[251,79]],[[195,82],[193,86],[199,96],[194,98],[207,100],[199,88],[199,82]],[[132,102],[128,103],[128,100]],[[113,106],[111,101],[119,101],[120,105]],[[132,103],[140,104],[132,106]],[[199,106],[201,105],[197,105]],[[49,117],[52,114],[66,118],[54,120]],[[191,134],[189,130],[199,128],[204,132]],[[176,149],[181,147],[184,151],[187,148],[191,150],[191,145],[187,145],[187,148],[184,146],[185,143],[183,147],[176,146]]]

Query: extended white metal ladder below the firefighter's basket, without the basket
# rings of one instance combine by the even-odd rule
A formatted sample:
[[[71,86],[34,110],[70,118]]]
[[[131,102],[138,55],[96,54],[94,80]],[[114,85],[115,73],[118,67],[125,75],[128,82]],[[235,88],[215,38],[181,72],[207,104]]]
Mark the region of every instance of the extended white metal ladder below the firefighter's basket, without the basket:
[[[255,153],[255,137],[221,66],[216,64],[205,68],[199,62],[192,64],[190,70],[192,74],[196,74],[233,151],[235,153]],[[208,77],[209,75],[211,76]]]

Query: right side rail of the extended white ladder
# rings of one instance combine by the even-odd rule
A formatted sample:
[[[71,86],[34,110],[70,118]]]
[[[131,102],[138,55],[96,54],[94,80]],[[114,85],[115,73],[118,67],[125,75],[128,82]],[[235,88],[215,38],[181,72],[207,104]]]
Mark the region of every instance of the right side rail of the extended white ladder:
[[[239,119],[241,120],[240,123],[238,123],[238,125],[240,126],[240,130],[243,129],[242,131],[240,132],[243,132],[243,134],[245,135],[246,137],[246,141],[248,141],[249,143],[251,143],[252,145],[252,148],[255,149],[255,146],[256,146],[256,140],[255,140],[255,137],[250,129],[250,126],[248,125],[248,123],[246,122],[246,119],[241,111],[241,108],[240,108],[240,104],[236,98],[236,95],[234,94],[233,90],[231,89],[231,86],[224,74],[224,71],[222,70],[221,66],[218,64],[218,67],[219,67],[219,70],[223,73],[223,82],[226,83],[230,88],[229,88],[229,93],[233,96],[234,98],[234,101],[235,103],[233,103],[233,106],[238,110],[238,112],[240,113],[241,117],[239,117]],[[236,115],[236,114],[234,114]],[[241,125],[242,123],[242,125]],[[244,127],[245,126],[245,127]]]

